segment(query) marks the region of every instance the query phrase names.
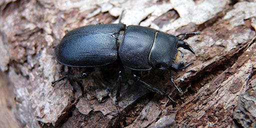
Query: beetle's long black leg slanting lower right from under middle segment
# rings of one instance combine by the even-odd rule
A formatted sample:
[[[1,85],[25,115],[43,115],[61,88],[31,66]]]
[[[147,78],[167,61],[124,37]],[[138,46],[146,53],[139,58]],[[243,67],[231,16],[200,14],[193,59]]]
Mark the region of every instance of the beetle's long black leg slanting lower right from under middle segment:
[[[158,94],[160,94],[160,95],[166,95],[166,96],[168,96],[168,98],[169,98],[171,101],[175,102],[175,101],[169,96],[169,94],[168,94],[167,92],[165,92],[165,91],[163,91],[163,90],[160,90],[160,89],[158,89],[158,88],[156,88],[156,87],[154,87],[154,86],[152,86],[152,85],[146,83],[145,81],[143,81],[142,79],[140,79],[140,77],[138,77],[138,76],[135,75],[134,73],[133,73],[133,80],[136,81],[136,82],[138,82],[140,85],[144,86],[144,87],[147,88],[148,90],[151,90],[151,91],[153,91],[153,92],[156,92],[156,93],[158,93]]]

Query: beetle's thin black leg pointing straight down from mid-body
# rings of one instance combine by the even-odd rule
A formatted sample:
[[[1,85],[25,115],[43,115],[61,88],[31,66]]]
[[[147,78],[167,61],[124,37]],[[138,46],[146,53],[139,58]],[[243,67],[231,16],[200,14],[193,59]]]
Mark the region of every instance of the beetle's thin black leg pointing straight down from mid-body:
[[[117,107],[118,113],[121,114],[121,111],[118,106],[118,101],[120,97],[120,89],[121,89],[121,82],[122,82],[122,76],[123,76],[123,67],[120,67],[120,71],[118,72],[118,79],[117,79],[117,90],[116,90],[116,96],[115,96],[115,106]]]

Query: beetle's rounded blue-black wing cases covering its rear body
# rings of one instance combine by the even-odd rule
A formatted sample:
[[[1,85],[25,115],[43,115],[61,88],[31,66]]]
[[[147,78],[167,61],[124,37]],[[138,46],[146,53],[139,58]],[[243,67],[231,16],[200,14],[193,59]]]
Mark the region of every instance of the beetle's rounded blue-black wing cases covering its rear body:
[[[68,32],[55,48],[58,62],[74,67],[94,67],[117,59],[117,37],[125,24],[96,24]]]

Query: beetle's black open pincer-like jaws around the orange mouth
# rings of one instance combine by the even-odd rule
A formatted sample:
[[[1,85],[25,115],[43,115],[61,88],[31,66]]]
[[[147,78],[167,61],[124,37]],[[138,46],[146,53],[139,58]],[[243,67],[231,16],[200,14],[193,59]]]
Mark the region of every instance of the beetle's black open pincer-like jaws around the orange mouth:
[[[187,42],[184,42],[182,39],[178,39],[176,47],[177,48],[182,47],[184,49],[187,49],[187,50],[191,51],[194,54],[194,50],[192,49],[192,47],[190,45],[188,45]],[[175,60],[178,58],[177,56],[175,57]],[[182,52],[181,52],[181,56],[183,57]],[[192,64],[192,63],[190,62],[190,63],[184,65],[183,61],[181,61],[179,64],[176,64],[176,63],[173,62],[171,64],[171,68],[174,68],[176,70],[180,70],[180,69],[184,69],[184,68],[188,67],[190,64]]]

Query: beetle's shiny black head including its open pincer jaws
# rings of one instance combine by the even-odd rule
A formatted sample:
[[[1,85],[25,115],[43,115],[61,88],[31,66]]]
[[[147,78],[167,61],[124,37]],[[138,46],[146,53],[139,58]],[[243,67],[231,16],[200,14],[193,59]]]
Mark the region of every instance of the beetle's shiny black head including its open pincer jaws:
[[[182,61],[179,64],[175,63],[179,52],[181,53],[181,56],[183,56],[182,52],[178,50],[179,47],[194,53],[191,46],[182,40],[184,37],[182,36],[181,38],[178,38],[171,34],[156,32],[155,40],[148,57],[148,62],[152,68],[180,70],[189,66],[191,63],[186,65],[184,65],[184,62]]]

